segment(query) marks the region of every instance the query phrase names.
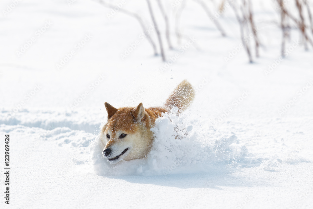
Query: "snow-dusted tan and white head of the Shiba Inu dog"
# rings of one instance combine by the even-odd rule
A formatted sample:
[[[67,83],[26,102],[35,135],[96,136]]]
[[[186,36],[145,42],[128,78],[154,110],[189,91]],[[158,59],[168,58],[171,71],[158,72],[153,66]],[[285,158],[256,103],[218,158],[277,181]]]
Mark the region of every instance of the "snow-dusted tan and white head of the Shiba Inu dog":
[[[110,162],[139,159],[146,156],[152,144],[149,115],[142,103],[138,107],[116,109],[105,102],[108,122],[101,129],[105,145],[103,156]]]

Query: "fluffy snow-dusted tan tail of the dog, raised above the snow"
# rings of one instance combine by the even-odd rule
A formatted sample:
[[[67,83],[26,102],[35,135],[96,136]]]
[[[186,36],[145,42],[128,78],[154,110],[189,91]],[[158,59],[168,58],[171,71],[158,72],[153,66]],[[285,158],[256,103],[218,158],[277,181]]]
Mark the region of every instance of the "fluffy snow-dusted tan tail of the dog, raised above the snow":
[[[178,107],[178,113],[183,112],[192,103],[195,97],[195,90],[187,80],[183,80],[165,102],[165,107],[169,110]]]

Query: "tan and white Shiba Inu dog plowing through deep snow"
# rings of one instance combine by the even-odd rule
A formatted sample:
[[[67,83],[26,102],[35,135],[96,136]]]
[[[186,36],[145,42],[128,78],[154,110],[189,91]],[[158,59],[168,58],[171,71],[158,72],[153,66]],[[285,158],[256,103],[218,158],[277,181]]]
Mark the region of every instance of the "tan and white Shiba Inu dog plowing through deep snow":
[[[184,80],[168,97],[164,107],[144,108],[140,103],[137,107],[115,108],[105,102],[108,121],[100,130],[103,156],[111,163],[144,158],[152,146],[154,137],[150,129],[156,119],[173,107],[178,108],[177,114],[181,113],[190,106],[194,96],[194,88]]]

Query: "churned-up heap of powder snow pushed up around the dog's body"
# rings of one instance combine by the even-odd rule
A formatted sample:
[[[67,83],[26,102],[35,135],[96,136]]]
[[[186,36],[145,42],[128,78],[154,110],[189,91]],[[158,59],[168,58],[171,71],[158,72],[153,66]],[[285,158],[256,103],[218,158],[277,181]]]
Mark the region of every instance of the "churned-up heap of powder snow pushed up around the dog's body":
[[[210,171],[213,165],[237,167],[243,163],[248,150],[239,145],[236,135],[214,140],[214,130],[200,135],[198,126],[186,114],[163,114],[151,128],[155,139],[147,157],[117,164],[102,156],[103,145],[98,136],[90,144],[95,171],[99,175],[169,175]]]

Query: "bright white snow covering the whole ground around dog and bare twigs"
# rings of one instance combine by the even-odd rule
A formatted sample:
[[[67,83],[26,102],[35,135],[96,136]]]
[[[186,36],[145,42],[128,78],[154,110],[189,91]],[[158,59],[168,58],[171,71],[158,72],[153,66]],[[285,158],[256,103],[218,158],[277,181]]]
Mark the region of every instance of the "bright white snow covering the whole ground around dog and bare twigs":
[[[170,2],[165,6],[174,19]],[[2,1],[1,11],[10,4]],[[20,1],[2,14],[0,136],[10,135],[11,174],[10,205],[1,208],[312,208],[312,50],[300,41],[264,73],[280,57],[273,5],[254,2],[264,47],[248,64],[243,49],[225,61],[240,44],[231,8],[218,18],[227,34],[221,37],[203,9],[188,1],[181,19],[186,39],[177,43],[172,35],[175,50],[166,49],[166,56],[178,58],[165,70],[139,38],[136,20],[120,12],[108,19],[111,10],[97,2]],[[149,17],[145,3],[124,7]],[[46,21],[51,25],[36,36]],[[75,48],[86,35],[92,37]],[[291,35],[288,47],[300,37],[295,29]],[[180,50],[192,37],[195,42]],[[110,164],[102,158],[104,102],[161,106],[184,79],[196,87],[196,98],[181,116],[156,120],[145,159]],[[3,148],[0,156],[3,165]],[[0,185],[4,192],[3,178]]]

